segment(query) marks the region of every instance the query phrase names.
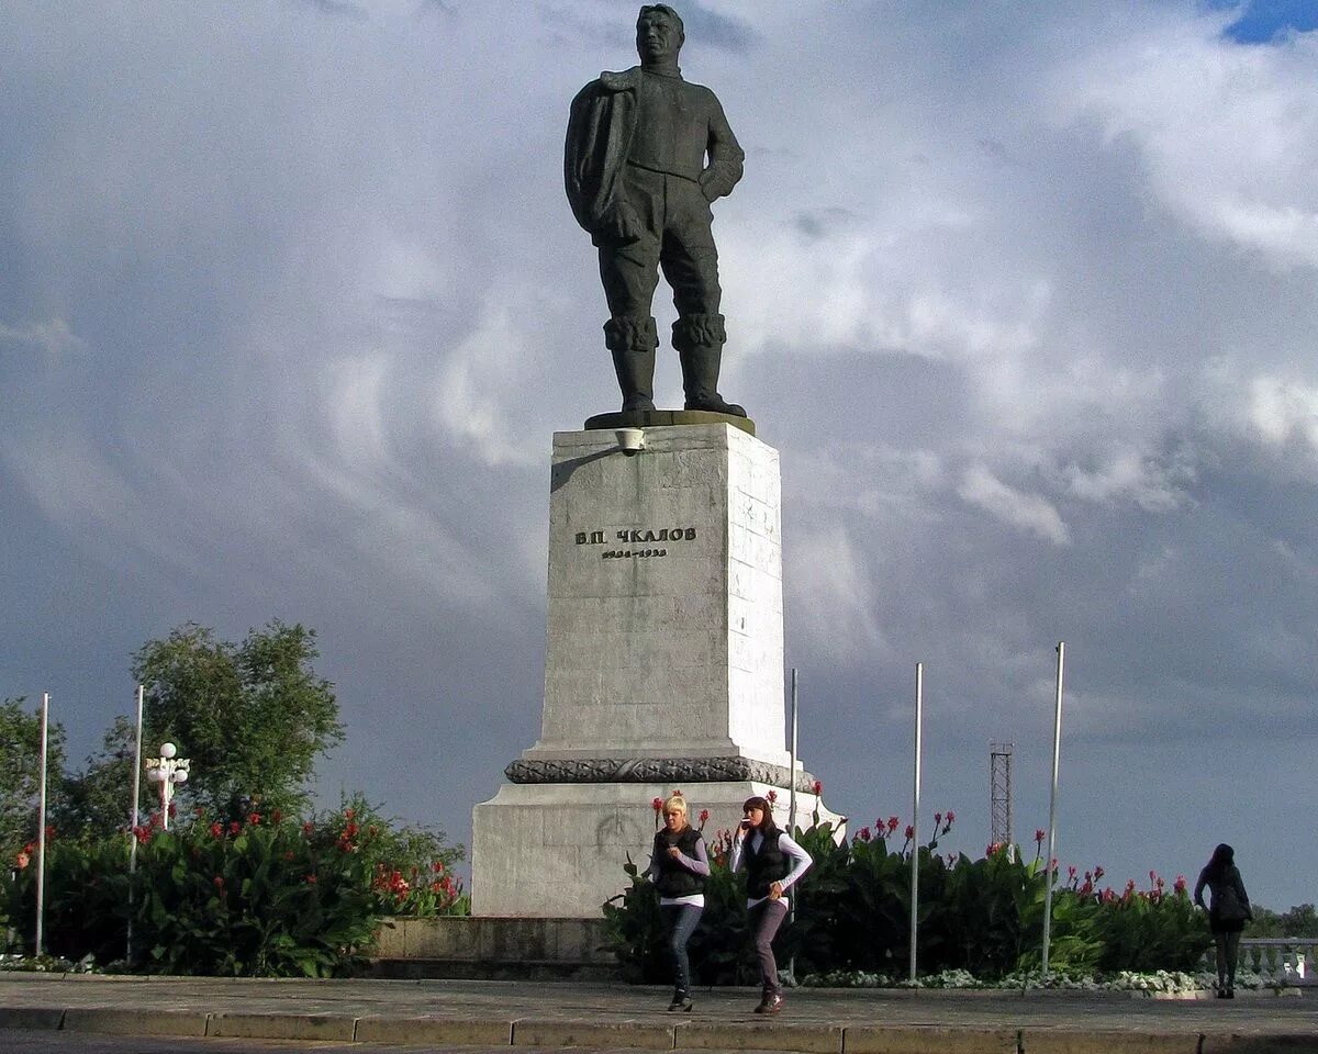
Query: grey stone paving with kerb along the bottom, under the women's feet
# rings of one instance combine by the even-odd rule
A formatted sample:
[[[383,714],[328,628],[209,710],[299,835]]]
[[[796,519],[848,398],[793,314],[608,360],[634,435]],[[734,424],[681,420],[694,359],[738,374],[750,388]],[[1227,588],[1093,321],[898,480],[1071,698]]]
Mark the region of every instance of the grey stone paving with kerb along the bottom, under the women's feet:
[[[1318,996],[793,989],[778,1017],[749,988],[621,983],[252,980],[0,974],[0,1029],[519,1050],[800,1054],[1318,1054]]]

